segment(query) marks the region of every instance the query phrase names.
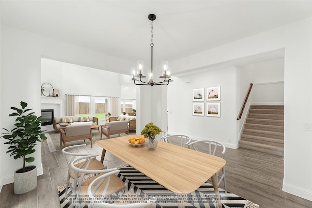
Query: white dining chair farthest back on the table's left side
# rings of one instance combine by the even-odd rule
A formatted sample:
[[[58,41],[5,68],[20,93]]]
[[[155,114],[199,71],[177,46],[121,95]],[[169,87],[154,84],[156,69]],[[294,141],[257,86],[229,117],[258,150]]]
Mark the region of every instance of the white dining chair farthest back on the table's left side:
[[[67,195],[68,195],[68,187],[70,187],[71,189],[73,188],[72,184],[70,182],[70,179],[71,178],[74,179],[74,177],[75,177],[74,170],[70,168],[70,163],[73,162],[77,157],[88,156],[88,155],[93,154],[93,153],[78,153],[79,148],[83,147],[83,146],[86,146],[86,144],[73,145],[73,146],[69,146],[69,147],[62,149],[62,153],[65,156],[65,160],[66,160],[67,165],[68,165],[65,198],[67,198]],[[81,165],[80,163],[75,164],[76,167],[79,167],[80,165]],[[104,164],[101,163],[96,157],[92,157],[90,159],[89,170],[103,170],[103,169],[105,169]]]

